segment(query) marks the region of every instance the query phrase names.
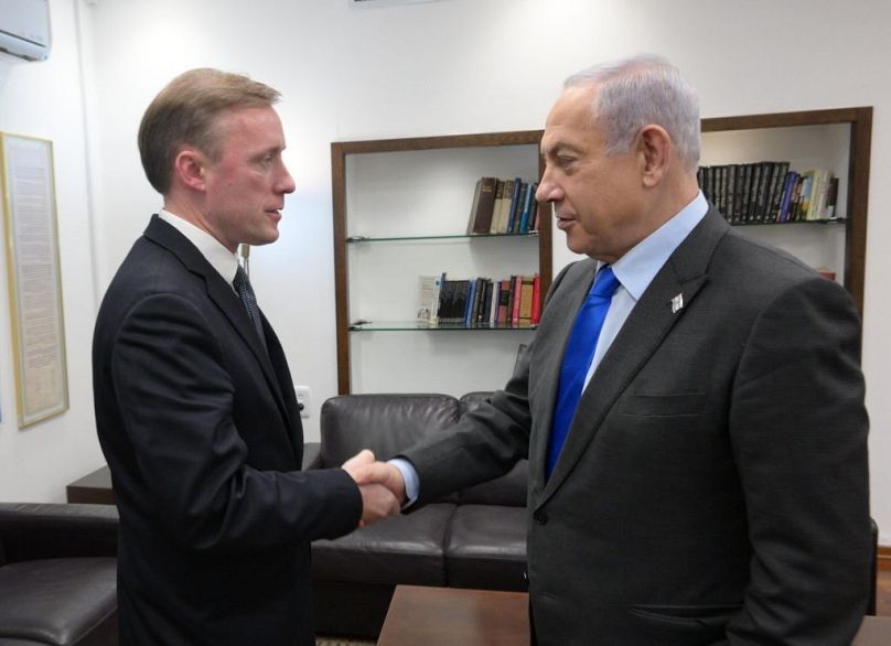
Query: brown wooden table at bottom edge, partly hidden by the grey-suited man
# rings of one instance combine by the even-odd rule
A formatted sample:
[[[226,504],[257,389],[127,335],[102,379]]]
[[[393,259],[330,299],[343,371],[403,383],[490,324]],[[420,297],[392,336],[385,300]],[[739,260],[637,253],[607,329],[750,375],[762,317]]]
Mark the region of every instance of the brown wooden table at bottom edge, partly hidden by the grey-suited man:
[[[525,592],[397,585],[377,646],[528,646]],[[851,646],[891,646],[891,617],[866,617]]]

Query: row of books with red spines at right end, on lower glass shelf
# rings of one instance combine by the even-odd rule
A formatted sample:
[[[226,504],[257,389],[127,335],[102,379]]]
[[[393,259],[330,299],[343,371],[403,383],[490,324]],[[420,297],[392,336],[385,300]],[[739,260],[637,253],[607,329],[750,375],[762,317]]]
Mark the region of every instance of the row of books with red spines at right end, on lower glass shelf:
[[[450,280],[418,277],[417,319],[443,327],[532,327],[541,315],[541,280],[512,276],[504,280]]]

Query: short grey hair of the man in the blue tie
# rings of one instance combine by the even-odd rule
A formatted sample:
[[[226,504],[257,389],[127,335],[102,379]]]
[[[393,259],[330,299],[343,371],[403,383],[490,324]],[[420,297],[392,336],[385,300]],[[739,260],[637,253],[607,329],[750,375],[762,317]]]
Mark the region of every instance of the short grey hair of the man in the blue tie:
[[[689,172],[699,163],[699,97],[677,67],[662,56],[640,54],[582,69],[565,88],[597,85],[591,106],[606,134],[610,154],[627,152],[637,132],[651,123],[672,138]]]

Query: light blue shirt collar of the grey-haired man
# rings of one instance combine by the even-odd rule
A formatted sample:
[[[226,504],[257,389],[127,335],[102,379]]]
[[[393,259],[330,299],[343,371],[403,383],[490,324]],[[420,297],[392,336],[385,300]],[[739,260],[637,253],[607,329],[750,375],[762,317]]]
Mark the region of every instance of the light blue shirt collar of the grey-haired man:
[[[700,191],[668,222],[637,243],[612,265],[613,273],[635,302],[640,300],[668,257],[696,228],[706,213],[708,213],[708,202]],[[602,263],[598,265],[598,269],[600,269],[600,265]]]

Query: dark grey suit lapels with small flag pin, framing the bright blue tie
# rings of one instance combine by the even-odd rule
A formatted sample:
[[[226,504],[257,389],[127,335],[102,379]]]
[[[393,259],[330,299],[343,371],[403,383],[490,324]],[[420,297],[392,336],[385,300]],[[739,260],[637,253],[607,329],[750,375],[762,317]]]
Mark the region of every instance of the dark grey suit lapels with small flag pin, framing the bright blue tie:
[[[537,500],[538,505],[546,502],[576,467],[615,400],[686,314],[689,303],[707,282],[708,263],[718,241],[728,230],[729,225],[723,217],[713,208],[710,209],[656,273],[603,356],[589,387],[582,392],[566,444],[543,495]],[[678,294],[681,294],[684,302],[680,309],[675,300]],[[569,319],[568,326],[571,327],[572,317]],[[563,347],[568,341],[569,327],[563,337]],[[556,370],[548,409],[552,411],[559,381],[559,363],[556,368],[550,369]],[[549,433],[550,421],[547,428]],[[546,444],[547,438],[538,439],[538,442],[543,441]],[[535,455],[543,456],[545,453],[546,451],[540,450]],[[536,464],[536,469],[544,470],[544,457],[537,462],[541,464]]]

